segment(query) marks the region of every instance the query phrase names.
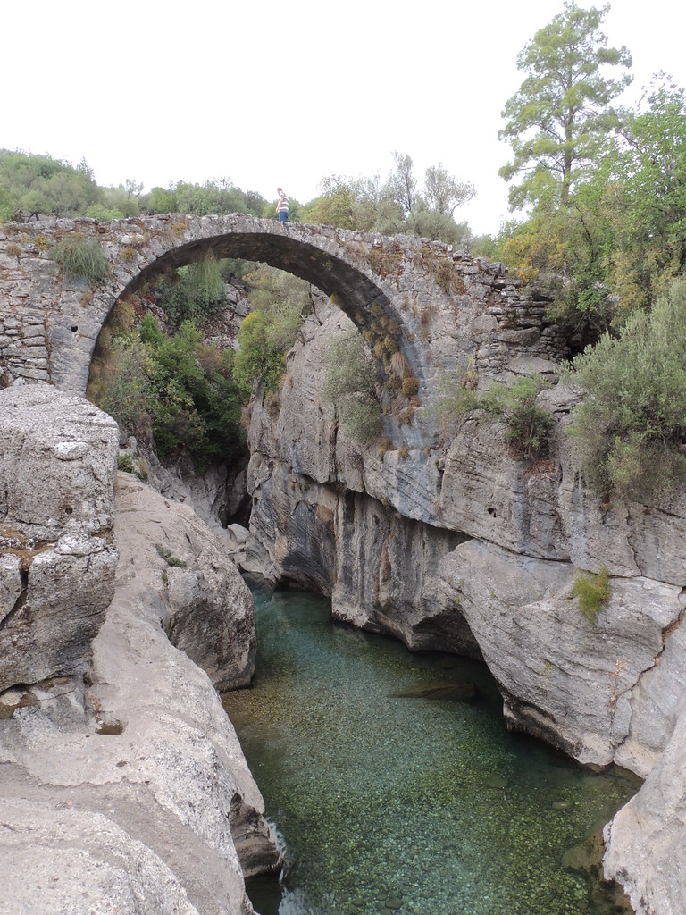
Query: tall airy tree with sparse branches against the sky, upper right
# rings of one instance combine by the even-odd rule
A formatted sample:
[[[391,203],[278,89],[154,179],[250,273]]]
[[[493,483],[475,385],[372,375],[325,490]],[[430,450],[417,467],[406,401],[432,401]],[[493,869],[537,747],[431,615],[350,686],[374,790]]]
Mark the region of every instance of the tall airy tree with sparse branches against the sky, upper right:
[[[616,127],[610,102],[632,80],[606,75],[606,68],[630,67],[627,48],[606,48],[600,31],[609,6],[580,9],[565,0],[563,13],[536,32],[520,51],[517,67],[528,73],[507,102],[498,133],[514,157],[499,170],[510,181],[511,210],[552,196],[569,204],[574,186],[601,156],[608,132]]]

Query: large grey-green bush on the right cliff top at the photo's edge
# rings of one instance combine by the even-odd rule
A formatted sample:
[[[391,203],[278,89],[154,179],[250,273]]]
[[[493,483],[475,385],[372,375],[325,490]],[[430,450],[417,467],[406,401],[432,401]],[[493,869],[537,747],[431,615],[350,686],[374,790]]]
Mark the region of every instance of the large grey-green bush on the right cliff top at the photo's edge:
[[[572,374],[573,372],[573,374]],[[585,479],[604,496],[645,500],[686,479],[686,282],[619,339],[606,333],[563,378],[586,392],[569,433]]]

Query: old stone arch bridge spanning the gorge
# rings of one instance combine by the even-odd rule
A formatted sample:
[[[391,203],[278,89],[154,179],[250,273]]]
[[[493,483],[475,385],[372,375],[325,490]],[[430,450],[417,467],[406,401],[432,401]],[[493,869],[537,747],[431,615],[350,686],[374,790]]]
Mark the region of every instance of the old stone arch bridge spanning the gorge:
[[[107,280],[91,287],[51,260],[50,248],[75,233],[100,243],[111,265]],[[500,264],[441,242],[242,214],[51,219],[0,225],[0,386],[50,382],[85,393],[96,340],[117,299],[209,252],[262,261],[316,285],[367,331],[381,360],[384,348],[402,350],[420,395],[437,371],[469,361],[482,383],[550,370],[563,355],[544,303],[520,296]]]

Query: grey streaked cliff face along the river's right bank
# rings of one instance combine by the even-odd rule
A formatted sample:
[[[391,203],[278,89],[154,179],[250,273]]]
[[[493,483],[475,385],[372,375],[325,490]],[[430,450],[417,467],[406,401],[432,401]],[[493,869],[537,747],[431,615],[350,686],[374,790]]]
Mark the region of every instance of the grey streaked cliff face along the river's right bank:
[[[357,447],[320,398],[327,340],[344,326],[334,311],[311,318],[278,404],[253,411],[244,567],[316,587],[334,616],[411,647],[480,653],[510,727],[647,776],[684,715],[684,495],[600,505],[564,436],[578,395],[562,386],[540,395],[555,426],[536,468],[512,458],[503,424],[477,416],[443,445],[423,423],[408,436],[389,428],[410,445]],[[603,566],[611,597],[589,622],[573,583]],[[672,775],[679,794],[686,778]],[[682,837],[673,802],[659,810]],[[613,834],[629,831],[616,823]],[[637,856],[623,867],[627,887],[645,886]],[[667,895],[638,911],[684,910],[681,857],[660,867]]]

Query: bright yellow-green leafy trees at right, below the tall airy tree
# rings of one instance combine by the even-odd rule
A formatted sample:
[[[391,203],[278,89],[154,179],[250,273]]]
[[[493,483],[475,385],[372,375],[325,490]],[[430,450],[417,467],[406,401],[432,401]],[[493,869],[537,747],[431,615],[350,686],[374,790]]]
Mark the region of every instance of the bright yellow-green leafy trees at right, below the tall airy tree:
[[[617,124],[570,204],[541,199],[492,253],[543,285],[573,351],[651,307],[686,269],[686,94],[653,83]]]

